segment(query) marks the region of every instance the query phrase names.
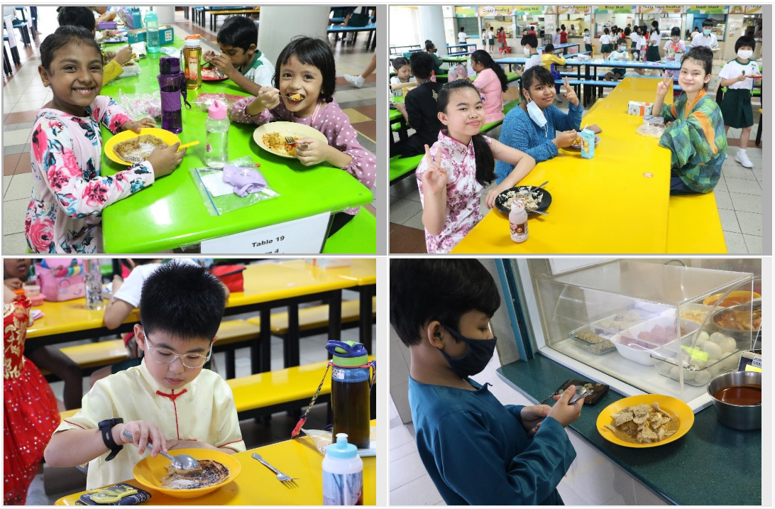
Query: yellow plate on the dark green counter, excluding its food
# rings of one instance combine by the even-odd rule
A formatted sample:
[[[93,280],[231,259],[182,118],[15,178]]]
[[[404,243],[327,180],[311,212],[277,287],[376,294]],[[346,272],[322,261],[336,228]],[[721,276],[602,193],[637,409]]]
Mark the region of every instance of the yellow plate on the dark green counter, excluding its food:
[[[611,415],[616,414],[623,408],[634,407],[639,404],[650,405],[653,404],[654,401],[659,403],[660,408],[662,408],[664,411],[667,411],[670,415],[673,416],[673,418],[678,419],[678,429],[670,438],[665,438],[661,442],[654,442],[651,444],[633,444],[632,442],[625,442],[620,438],[616,438],[614,433],[605,427],[607,424],[613,424],[614,419],[611,418]],[[678,438],[686,435],[687,432],[691,429],[691,426],[694,425],[694,412],[691,411],[689,405],[683,401],[677,400],[674,397],[664,396],[663,394],[640,394],[639,396],[625,397],[624,399],[616,401],[615,403],[609,404],[608,407],[604,408],[603,411],[601,411],[598,415],[598,421],[596,425],[598,426],[598,433],[600,433],[603,438],[608,440],[608,442],[613,444],[624,445],[625,447],[632,447],[635,449],[658,447],[659,445],[675,442]]]

